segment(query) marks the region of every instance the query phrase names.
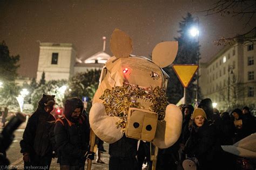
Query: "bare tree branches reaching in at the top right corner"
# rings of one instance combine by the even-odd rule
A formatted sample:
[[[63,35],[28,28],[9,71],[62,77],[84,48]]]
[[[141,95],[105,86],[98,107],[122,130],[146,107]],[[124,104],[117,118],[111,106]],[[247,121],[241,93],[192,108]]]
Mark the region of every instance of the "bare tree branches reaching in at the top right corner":
[[[256,1],[255,0],[219,0],[213,7],[204,11],[206,16],[220,14],[221,16],[232,15],[232,17],[246,18],[245,27],[255,24]],[[233,45],[235,41],[241,44],[256,42],[256,27],[244,34],[237,34],[234,37],[221,37],[214,41],[216,45]]]

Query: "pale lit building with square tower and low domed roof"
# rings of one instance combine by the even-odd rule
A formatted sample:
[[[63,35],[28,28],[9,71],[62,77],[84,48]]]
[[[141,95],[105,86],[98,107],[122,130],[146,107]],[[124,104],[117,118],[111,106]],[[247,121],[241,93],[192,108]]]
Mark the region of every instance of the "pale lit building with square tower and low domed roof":
[[[46,81],[69,80],[76,73],[101,69],[109,58],[109,54],[100,51],[86,60],[81,60],[77,57],[76,49],[72,44],[42,42],[36,80],[37,82],[41,80],[43,72]]]

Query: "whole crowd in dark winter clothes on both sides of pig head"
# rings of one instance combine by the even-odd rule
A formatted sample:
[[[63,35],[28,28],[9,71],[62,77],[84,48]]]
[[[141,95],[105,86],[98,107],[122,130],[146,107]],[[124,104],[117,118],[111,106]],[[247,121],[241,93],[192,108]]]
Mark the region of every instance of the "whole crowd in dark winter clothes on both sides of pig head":
[[[86,159],[93,160],[95,157],[95,153],[89,150],[89,115],[84,110],[83,102],[72,97],[65,101],[63,117],[56,120],[51,115],[54,97],[43,94],[26,125],[20,142],[24,168],[50,169],[52,158],[57,157],[60,169],[84,169]],[[180,137],[171,147],[159,148],[156,169],[184,169],[187,159],[193,160],[198,169],[225,169],[225,154],[221,145],[232,145],[256,132],[255,117],[248,107],[220,113],[213,108],[211,99],[205,98],[197,108],[191,104],[180,105],[179,108],[183,113]],[[147,165],[147,169],[152,168],[150,142],[139,141],[137,146],[138,140],[126,138],[125,135],[120,140],[127,147],[119,152],[119,145],[110,144],[110,169],[115,169],[116,165],[119,167],[122,162],[125,167],[129,161],[132,169],[142,169],[143,164]],[[104,142],[98,138],[96,143],[97,162],[104,164],[99,153],[105,151]],[[137,150],[129,144],[137,146]],[[120,154],[129,155],[129,158],[119,160]]]

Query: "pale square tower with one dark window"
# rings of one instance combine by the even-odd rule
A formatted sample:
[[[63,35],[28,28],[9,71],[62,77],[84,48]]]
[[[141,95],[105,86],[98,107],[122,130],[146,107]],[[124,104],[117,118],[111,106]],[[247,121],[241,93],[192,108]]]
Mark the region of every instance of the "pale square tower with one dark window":
[[[74,74],[76,50],[69,43],[41,42],[37,68],[37,82],[43,72],[45,80],[68,80]]]

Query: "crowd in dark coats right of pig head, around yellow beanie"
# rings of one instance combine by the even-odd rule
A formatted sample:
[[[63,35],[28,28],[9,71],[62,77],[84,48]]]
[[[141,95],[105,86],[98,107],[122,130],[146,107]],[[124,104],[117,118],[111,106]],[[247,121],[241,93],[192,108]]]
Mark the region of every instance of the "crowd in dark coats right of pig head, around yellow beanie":
[[[197,108],[191,104],[179,108],[183,113],[180,137],[171,147],[159,149],[156,169],[186,169],[187,162],[191,168],[191,160],[197,169],[228,169],[221,145],[233,145],[256,132],[256,119],[246,106],[220,113],[205,98]],[[148,162],[147,169],[151,169],[152,162]]]

